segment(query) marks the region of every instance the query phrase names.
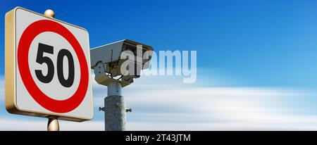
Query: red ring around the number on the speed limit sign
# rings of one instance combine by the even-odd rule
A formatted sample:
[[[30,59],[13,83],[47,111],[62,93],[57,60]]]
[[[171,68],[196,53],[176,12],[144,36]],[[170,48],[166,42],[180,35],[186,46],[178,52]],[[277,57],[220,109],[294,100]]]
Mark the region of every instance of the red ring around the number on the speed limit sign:
[[[42,32],[55,32],[60,34],[70,43],[77,55],[80,63],[80,84],[73,96],[70,96],[68,99],[51,99],[49,96],[46,96],[41,89],[39,89],[32,78],[28,63],[28,54],[33,39]],[[77,106],[79,106],[85,98],[89,81],[89,72],[85,53],[82,51],[82,47],[75,36],[66,27],[59,23],[52,20],[38,20],[25,29],[18,44],[18,68],[27,92],[30,93],[32,98],[35,99],[40,106],[49,111],[54,113],[68,113],[77,108]]]

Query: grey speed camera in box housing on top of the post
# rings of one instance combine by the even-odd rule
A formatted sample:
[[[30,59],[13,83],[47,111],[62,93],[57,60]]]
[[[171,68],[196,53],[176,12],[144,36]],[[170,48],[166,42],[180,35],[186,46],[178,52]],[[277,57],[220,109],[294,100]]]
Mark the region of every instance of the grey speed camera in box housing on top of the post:
[[[90,49],[95,80],[104,85],[120,80],[124,87],[138,78],[141,70],[149,68],[153,51],[151,46],[129,39]],[[126,69],[121,69],[122,67]],[[118,76],[120,77],[116,79]]]

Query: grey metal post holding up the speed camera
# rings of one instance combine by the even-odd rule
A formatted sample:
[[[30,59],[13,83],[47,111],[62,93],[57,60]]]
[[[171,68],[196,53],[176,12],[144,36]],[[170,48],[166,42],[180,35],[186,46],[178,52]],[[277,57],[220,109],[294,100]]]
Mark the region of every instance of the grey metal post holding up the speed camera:
[[[124,131],[126,122],[125,99],[121,94],[120,82],[113,81],[107,85],[108,96],[104,99],[106,131]]]

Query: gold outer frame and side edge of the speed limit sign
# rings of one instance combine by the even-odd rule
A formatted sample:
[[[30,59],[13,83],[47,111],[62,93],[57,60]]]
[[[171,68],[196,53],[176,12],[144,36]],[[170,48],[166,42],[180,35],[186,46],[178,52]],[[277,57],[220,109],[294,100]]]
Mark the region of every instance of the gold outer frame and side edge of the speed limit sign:
[[[5,103],[6,103],[6,110],[9,113],[18,114],[18,115],[31,115],[35,117],[42,117],[42,118],[58,118],[60,120],[70,120],[75,122],[82,122],[85,120],[91,120],[87,118],[74,118],[69,115],[57,115],[53,113],[44,113],[41,111],[25,111],[21,108],[18,108],[16,103],[16,35],[15,35],[15,22],[16,22],[16,11],[18,9],[22,9],[24,11],[28,11],[30,13],[34,13],[36,15],[40,15],[45,18],[49,18],[54,21],[58,21],[59,23],[64,23],[66,25],[70,25],[73,27],[80,28],[82,30],[85,30],[85,28],[78,27],[76,25],[72,25],[66,22],[63,22],[61,20],[57,20],[55,18],[51,18],[46,15],[42,15],[40,13],[36,13],[34,11],[27,10],[26,8],[16,7],[11,11],[8,11],[6,13],[5,17]],[[87,32],[87,30],[85,30]],[[88,34],[88,32],[87,32]],[[89,41],[88,41],[89,44]],[[90,65],[90,51],[88,52],[89,56],[89,62]],[[90,68],[89,68],[90,69]],[[89,72],[89,77],[91,75],[91,72]],[[91,92],[92,97],[92,83],[90,83],[90,90],[88,89],[87,92]],[[94,115],[94,104],[92,101],[92,118]]]

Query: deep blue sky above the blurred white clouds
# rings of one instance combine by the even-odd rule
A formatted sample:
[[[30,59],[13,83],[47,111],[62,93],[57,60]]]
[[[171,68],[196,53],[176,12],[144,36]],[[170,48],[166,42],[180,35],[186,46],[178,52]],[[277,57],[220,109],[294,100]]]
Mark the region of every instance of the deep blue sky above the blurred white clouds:
[[[159,50],[197,50],[200,68],[240,80],[235,86],[316,87],[316,1],[8,1],[85,27],[91,47],[132,39]],[[0,67],[4,68],[4,57]],[[4,69],[0,70],[4,74]]]

